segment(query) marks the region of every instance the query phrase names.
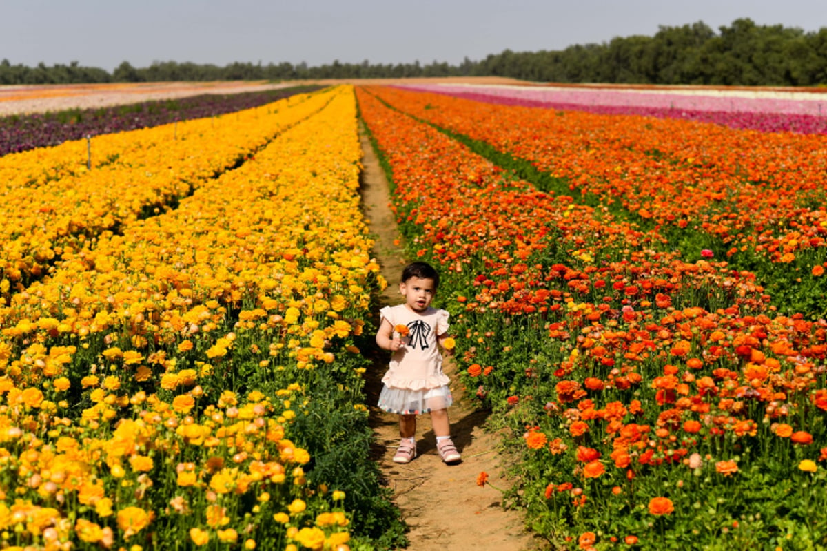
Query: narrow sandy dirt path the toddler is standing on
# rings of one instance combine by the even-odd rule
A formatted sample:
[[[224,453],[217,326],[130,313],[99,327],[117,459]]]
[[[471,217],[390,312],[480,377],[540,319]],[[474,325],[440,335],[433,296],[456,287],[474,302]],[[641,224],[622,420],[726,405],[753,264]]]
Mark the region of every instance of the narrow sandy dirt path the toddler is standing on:
[[[361,133],[362,200],[370,231],[376,236],[375,258],[389,287],[380,306],[399,304],[399,273],[405,264],[403,250],[394,244],[399,239],[390,202],[388,184],[370,141]],[[378,320],[377,320],[378,321]],[[375,404],[381,389],[380,378],[387,368],[387,358],[377,360],[367,381],[368,403]],[[453,365],[446,366],[449,376]],[[482,430],[485,412],[477,411],[470,401],[463,400],[463,389],[452,383],[454,405],[448,410],[452,420],[452,437],[463,460],[455,465],[442,463],[437,454],[430,417],[420,416],[417,427],[418,457],[407,465],[393,463],[399,442],[398,416],[371,407],[371,425],[385,483],[394,492],[394,502],[409,525],[410,551],[424,549],[540,549],[538,540],[523,530],[522,516],[517,511],[504,511],[500,493],[490,487],[478,487],[476,477],[481,471],[490,474],[490,481],[505,487],[499,476],[497,435]]]

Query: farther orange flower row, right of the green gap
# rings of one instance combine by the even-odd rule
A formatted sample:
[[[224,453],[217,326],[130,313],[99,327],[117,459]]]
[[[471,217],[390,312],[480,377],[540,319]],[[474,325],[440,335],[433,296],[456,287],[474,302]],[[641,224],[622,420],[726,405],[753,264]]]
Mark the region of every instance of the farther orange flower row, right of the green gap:
[[[547,191],[757,273],[775,306],[827,314],[827,136],[731,131],[642,116],[558,112],[386,89],[448,131],[522,159]],[[518,173],[524,167],[508,159]],[[538,183],[541,183],[538,180]],[[694,249],[694,250],[693,250]]]

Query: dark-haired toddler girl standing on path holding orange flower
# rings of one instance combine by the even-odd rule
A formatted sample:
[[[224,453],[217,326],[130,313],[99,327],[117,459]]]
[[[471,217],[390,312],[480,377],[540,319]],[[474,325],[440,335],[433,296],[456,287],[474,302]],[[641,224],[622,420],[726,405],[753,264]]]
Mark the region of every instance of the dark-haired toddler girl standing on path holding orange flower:
[[[452,404],[448,379],[442,373],[442,354],[438,344],[448,338],[448,312],[431,307],[437,294],[439,274],[429,264],[414,262],[406,266],[399,283],[404,303],[380,310],[376,344],[393,352],[385,373],[379,407],[399,414],[399,449],[395,463],[408,463],[416,457],[416,416],[430,413],[437,449],[442,461],[455,463],[461,456],[451,440],[447,407]]]

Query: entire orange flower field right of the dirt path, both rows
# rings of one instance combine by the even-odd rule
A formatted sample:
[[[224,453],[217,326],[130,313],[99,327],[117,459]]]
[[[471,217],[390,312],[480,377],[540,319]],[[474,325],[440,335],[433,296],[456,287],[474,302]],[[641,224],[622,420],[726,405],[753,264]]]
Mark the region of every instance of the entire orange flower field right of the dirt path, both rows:
[[[533,530],[827,545],[825,136],[356,94]]]

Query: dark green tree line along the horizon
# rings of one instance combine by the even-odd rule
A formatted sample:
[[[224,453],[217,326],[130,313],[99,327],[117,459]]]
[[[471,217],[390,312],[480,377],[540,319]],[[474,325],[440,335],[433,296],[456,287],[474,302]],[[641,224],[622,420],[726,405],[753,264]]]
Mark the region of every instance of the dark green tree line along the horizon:
[[[158,82],[173,80],[291,80],[304,78],[405,78],[503,76],[537,82],[724,84],[816,86],[827,84],[827,27],[804,32],[797,27],[757,25],[736,19],[713,31],[704,22],[660,26],[654,36],[614,37],[602,44],[571,45],[565,50],[504,50],[461,64],[306,63],[214,64],[156,61],[136,68],[124,61],[112,73],[69,65],[27,67],[0,62],[0,84]]]

